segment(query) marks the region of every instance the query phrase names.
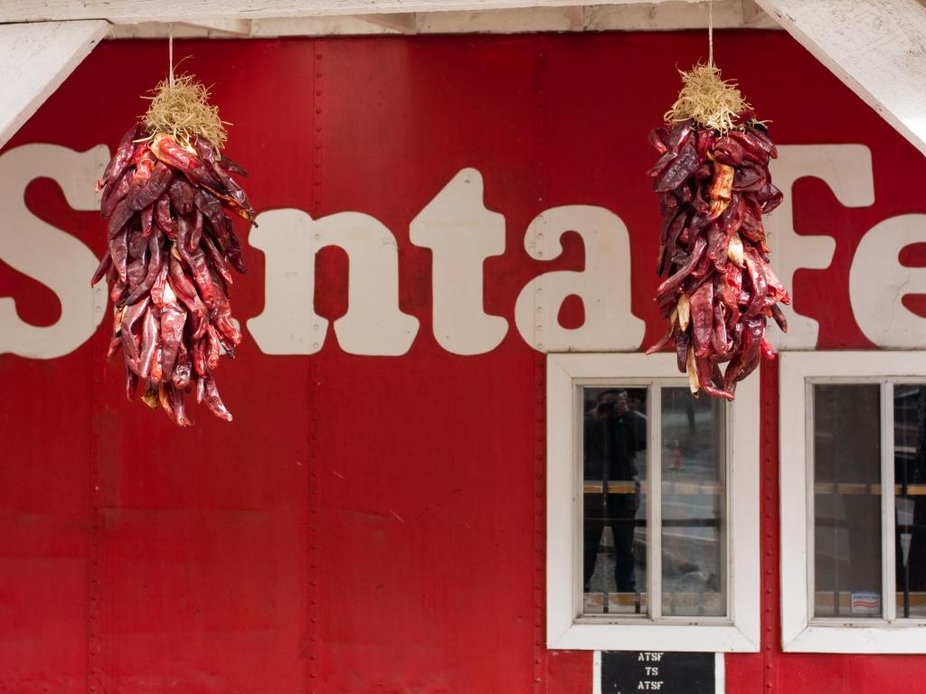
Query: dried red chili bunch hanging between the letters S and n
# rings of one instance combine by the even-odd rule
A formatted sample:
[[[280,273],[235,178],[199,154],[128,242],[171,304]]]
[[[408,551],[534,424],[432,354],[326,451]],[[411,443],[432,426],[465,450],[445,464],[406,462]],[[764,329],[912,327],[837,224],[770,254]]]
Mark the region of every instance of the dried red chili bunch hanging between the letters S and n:
[[[109,355],[119,350],[131,400],[160,406],[189,426],[184,395],[195,390],[228,421],[214,372],[233,358],[232,268],[245,272],[228,213],[254,210],[222,155],[225,131],[206,88],[188,75],[157,85],[144,124],[122,138],[97,190],[108,220],[108,251],[92,284],[106,278],[115,304]]]

